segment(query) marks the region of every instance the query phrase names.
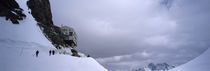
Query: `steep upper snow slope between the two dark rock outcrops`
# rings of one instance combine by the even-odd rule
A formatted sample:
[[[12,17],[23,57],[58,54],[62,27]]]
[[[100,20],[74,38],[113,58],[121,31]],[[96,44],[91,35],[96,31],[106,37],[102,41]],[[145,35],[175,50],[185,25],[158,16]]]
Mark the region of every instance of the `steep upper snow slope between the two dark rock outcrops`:
[[[42,45],[51,46],[49,41],[43,36],[42,31],[37,26],[31,14],[28,12],[26,5],[27,0],[16,0],[20,7],[24,9],[24,14],[27,16],[20,24],[12,24],[11,21],[6,21],[5,17],[0,17],[0,39],[13,39],[27,42],[36,42]]]

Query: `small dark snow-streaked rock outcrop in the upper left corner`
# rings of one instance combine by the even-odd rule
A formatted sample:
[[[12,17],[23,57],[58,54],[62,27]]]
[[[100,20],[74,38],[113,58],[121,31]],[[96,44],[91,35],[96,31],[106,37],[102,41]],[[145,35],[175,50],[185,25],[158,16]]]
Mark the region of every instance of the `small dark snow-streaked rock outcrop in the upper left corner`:
[[[18,21],[26,17],[22,11],[15,0],[0,0],[0,16],[11,20],[13,24],[19,24]]]

